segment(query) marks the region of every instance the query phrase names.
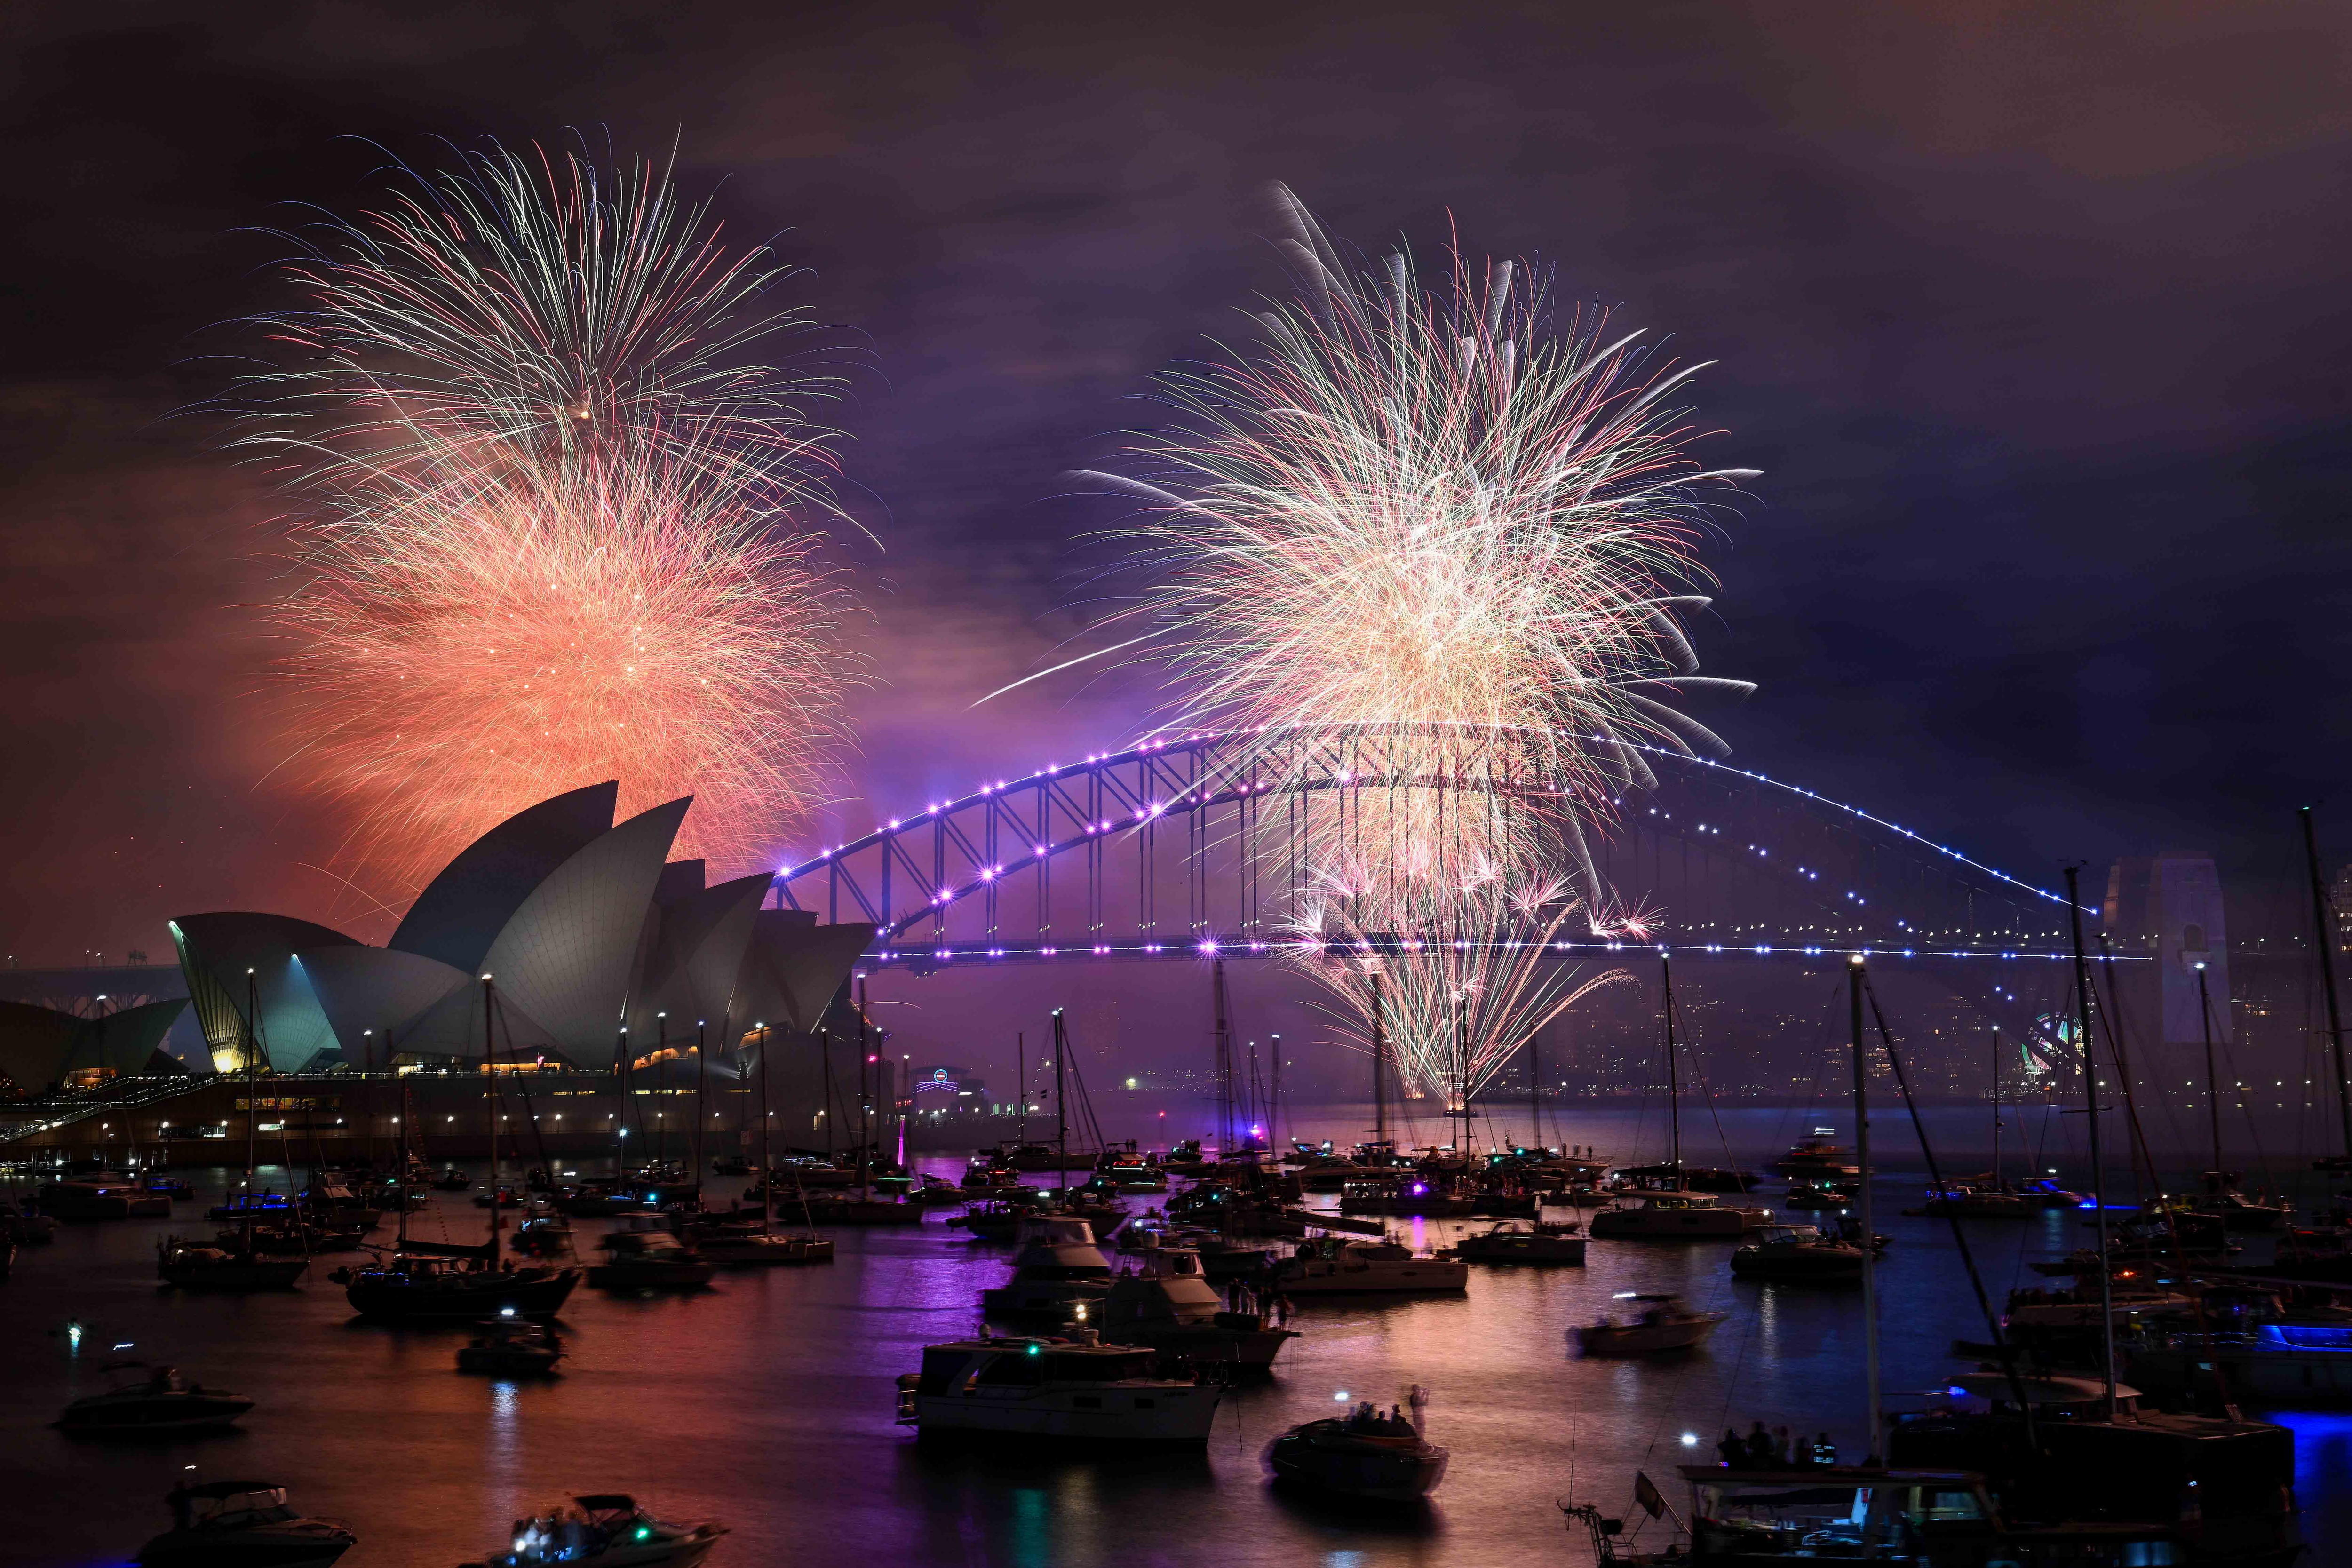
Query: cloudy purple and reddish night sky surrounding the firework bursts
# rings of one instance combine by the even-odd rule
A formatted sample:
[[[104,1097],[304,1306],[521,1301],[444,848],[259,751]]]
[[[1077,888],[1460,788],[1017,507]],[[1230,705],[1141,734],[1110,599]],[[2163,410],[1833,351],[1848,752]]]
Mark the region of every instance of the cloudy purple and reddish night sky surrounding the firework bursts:
[[[21,961],[162,919],[367,924],[259,696],[278,501],[174,418],[282,294],[263,230],[383,148],[673,139],[870,362],[877,616],[842,823],[1127,738],[1047,663],[1112,520],[1063,473],[1275,289],[1287,181],[1665,336],[1764,470],[1710,548],[1743,766],[2053,882],[2277,877],[2345,776],[2340,5],[61,5],[9,9],[0,813]],[[376,143],[376,146],[369,146]],[[800,858],[816,827],[779,827]],[[2098,882],[2093,872],[2093,882]],[[367,889],[381,893],[381,889]]]

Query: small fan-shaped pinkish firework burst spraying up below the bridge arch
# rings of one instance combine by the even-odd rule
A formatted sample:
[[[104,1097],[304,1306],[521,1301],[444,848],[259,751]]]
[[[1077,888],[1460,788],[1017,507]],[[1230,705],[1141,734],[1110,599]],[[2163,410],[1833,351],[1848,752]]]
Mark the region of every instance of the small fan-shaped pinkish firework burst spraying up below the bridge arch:
[[[1345,1044],[1369,1051],[1374,1009],[1397,1077],[1461,1107],[1526,1048],[1543,1025],[1623,969],[1588,976],[1543,954],[1581,914],[1566,884],[1442,886],[1421,877],[1324,879],[1301,905],[1301,969],[1331,997]],[[1381,976],[1374,992],[1371,976]]]

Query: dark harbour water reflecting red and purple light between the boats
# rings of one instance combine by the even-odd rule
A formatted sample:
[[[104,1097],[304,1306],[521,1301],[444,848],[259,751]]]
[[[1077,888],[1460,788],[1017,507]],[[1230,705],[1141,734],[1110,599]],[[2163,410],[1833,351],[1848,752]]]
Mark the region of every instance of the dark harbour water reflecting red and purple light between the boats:
[[[1771,1159],[1818,1112],[1724,1112],[1733,1159]],[[1983,1121],[1983,1117],[1973,1117]],[[1818,1124],[1837,1124],[1839,1117]],[[1952,1114],[1962,1128],[1969,1114]],[[1108,1128],[1112,1135],[1141,1128]],[[1357,1110],[1301,1112],[1308,1138],[1362,1135]],[[1889,1389],[1936,1387],[1950,1342],[1983,1319],[1940,1222],[1910,1220],[1917,1147],[1891,1121],[1879,1229]],[[1656,1140],[1630,1112],[1569,1112],[1548,1135],[1630,1159]],[[1715,1143],[1715,1124],[1705,1124]],[[1955,1133],[1955,1143],[1966,1138]],[[2065,1128],[2044,1154],[2070,1175]],[[1693,1131],[1693,1145],[1698,1135]],[[1653,1150],[1651,1150],[1653,1152]],[[1722,1150],[1691,1147],[1693,1161]],[[1957,1168],[1971,1152],[1955,1152]],[[920,1159],[955,1175],[957,1159]],[[193,1171],[198,1201],[176,1227],[200,1229],[228,1171]],[[273,1180],[275,1175],[275,1180]],[[282,1173],[266,1173],[282,1185]],[[741,1182],[713,1182],[724,1201]],[[433,1194],[419,1234],[477,1239],[482,1211]],[[1134,1199],[1143,1208],[1148,1199]],[[953,1213],[953,1211],[950,1211]],[[1994,1302],[2027,1269],[2082,1239],[2082,1215],[1971,1225]],[[1204,1453],[1023,1453],[922,1448],[891,1422],[894,1378],[920,1347],[974,1331],[976,1293],[1004,1276],[1007,1248],[943,1225],[842,1229],[830,1267],[722,1274],[708,1293],[630,1298],[581,1291],[562,1316],[569,1359],[548,1382],[454,1371],[461,1331],[383,1328],[353,1319],[313,1265],[299,1291],[191,1295],[160,1291],[165,1220],[68,1225],[26,1248],[0,1284],[0,1474],[12,1519],[0,1561],[122,1563],[165,1523],[162,1493],[200,1479],[266,1476],[303,1512],[360,1535],[350,1568],[459,1563],[503,1540],[508,1521],[588,1490],[626,1490],[666,1519],[731,1528],[720,1568],[861,1561],[969,1568],[1047,1566],[1327,1566],[1590,1561],[1555,1500],[1625,1512],[1637,1469],[1679,1497],[1672,1467],[1712,1458],[1726,1425],[1828,1427],[1860,1453],[1863,1335],[1851,1288],[1733,1284],[1726,1244],[1595,1241],[1585,1267],[1479,1267],[1461,1298],[1303,1302],[1303,1331],[1265,1385],[1232,1392]],[[583,1246],[595,1222],[581,1222]],[[1397,1222],[1416,1241],[1454,1222]],[[1625,1291],[1672,1291],[1731,1312],[1712,1345],[1682,1361],[1581,1361],[1566,1333]],[[75,1333],[78,1328],[78,1333]],[[256,1408],[245,1432],[148,1446],[66,1439],[47,1422],[99,1385],[113,1359],[172,1361]],[[1435,1505],[1416,1514],[1322,1507],[1265,1486],[1261,1450],[1350,1401],[1432,1392],[1430,1436],[1454,1450]],[[2274,1413],[2298,1432],[2298,1497],[2314,1561],[2352,1554],[2352,1413]],[[188,1469],[193,1467],[193,1472]],[[1649,1526],[1658,1535],[1658,1526]],[[1661,1542],[1663,1544],[1663,1542]]]

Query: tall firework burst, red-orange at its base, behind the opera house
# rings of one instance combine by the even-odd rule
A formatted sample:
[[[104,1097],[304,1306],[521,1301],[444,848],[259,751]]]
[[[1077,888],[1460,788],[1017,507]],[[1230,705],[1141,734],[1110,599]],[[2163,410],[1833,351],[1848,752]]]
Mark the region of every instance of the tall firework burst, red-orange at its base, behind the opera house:
[[[564,788],[696,795],[682,853],[757,863],[849,743],[830,383],[746,364],[802,313],[666,172],[494,150],[294,275],[240,444],[306,503],[273,607],[294,766],[412,882]]]

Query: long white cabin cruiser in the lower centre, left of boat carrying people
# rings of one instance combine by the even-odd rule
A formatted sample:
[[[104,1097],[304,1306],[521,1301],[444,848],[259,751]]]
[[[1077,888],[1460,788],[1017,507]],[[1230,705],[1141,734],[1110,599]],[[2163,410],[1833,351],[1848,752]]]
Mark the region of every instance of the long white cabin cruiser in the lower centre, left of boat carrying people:
[[[1077,1340],[981,1338],[922,1347],[898,1378],[898,1425],[922,1436],[1021,1436],[1084,1443],[1209,1441],[1223,1389],[1162,1373],[1152,1352]]]

